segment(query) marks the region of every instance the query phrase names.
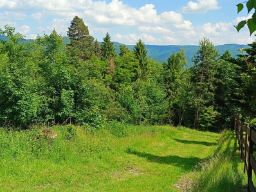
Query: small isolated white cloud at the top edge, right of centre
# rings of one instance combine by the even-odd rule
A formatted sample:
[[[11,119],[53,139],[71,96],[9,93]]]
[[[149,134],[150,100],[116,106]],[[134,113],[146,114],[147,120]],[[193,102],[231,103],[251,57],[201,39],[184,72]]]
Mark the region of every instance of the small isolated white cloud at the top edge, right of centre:
[[[218,10],[217,0],[197,0],[197,3],[189,1],[187,6],[183,6],[183,13],[206,13],[209,10]]]

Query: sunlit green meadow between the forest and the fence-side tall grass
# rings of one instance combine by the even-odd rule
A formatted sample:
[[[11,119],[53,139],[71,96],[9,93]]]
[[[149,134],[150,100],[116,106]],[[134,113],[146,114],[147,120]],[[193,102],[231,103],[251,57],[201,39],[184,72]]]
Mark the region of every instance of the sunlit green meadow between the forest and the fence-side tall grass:
[[[121,128],[72,126],[77,136],[67,140],[52,127],[53,141],[37,138],[41,127],[0,129],[0,191],[179,191],[174,184],[213,156],[220,138],[185,127]]]

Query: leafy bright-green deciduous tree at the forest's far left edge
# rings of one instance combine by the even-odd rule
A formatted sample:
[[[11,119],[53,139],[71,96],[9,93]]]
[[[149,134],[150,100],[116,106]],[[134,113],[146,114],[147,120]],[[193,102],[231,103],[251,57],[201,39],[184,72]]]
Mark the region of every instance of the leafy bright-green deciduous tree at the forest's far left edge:
[[[23,36],[14,34],[14,30],[6,25],[5,31],[1,31],[8,40],[0,44],[0,124],[22,127],[37,118],[38,68],[28,45],[19,44]]]

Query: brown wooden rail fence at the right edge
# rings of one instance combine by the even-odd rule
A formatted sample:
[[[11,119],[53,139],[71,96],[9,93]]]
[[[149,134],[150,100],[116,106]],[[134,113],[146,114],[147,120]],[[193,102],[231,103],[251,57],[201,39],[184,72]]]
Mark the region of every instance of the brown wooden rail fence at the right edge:
[[[256,192],[252,180],[252,172],[256,175],[256,161],[253,157],[253,147],[256,147],[256,131],[249,124],[242,124],[239,118],[233,118],[233,128],[239,141],[241,161],[244,161],[244,173],[248,175],[248,191]]]

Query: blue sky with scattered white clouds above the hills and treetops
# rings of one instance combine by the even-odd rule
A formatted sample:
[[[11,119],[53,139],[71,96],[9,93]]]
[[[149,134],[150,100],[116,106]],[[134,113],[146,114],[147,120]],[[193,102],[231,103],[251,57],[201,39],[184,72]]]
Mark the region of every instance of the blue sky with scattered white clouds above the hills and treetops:
[[[214,45],[250,44],[248,28],[237,33],[234,25],[251,17],[244,0],[1,0],[0,28],[8,24],[34,39],[54,29],[67,35],[77,15],[99,42],[108,32],[111,41],[134,45],[199,45],[208,38]]]

